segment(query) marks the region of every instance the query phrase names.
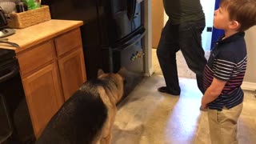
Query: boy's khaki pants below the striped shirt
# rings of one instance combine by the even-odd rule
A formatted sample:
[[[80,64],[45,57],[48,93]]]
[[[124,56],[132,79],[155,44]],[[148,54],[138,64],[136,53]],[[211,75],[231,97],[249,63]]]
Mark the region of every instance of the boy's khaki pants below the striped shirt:
[[[212,144],[237,144],[238,118],[242,112],[242,103],[222,111],[208,109],[210,139]]]

